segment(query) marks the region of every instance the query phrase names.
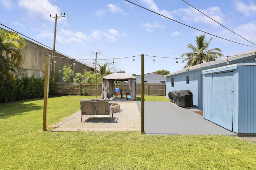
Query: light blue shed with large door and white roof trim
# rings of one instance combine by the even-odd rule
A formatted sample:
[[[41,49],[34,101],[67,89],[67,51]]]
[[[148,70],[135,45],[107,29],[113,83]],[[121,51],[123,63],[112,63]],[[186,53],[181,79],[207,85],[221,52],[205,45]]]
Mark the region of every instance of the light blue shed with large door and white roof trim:
[[[256,63],[208,69],[204,118],[238,134],[256,133]]]

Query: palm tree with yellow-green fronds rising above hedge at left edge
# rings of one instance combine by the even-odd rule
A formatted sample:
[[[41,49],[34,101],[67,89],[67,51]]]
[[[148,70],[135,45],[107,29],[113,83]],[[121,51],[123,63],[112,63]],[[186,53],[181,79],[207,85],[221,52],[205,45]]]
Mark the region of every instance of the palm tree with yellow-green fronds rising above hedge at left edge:
[[[0,77],[14,80],[22,72],[24,61],[21,49],[25,47],[24,38],[16,33],[0,29]]]

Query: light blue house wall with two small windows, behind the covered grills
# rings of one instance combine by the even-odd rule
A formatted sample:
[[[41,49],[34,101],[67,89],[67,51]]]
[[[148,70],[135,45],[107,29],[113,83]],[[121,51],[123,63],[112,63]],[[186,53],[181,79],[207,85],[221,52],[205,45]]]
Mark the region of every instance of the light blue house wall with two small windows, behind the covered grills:
[[[186,76],[189,76],[190,83],[186,83]],[[174,78],[174,87],[172,88],[171,79]],[[202,106],[202,71],[191,71],[182,74],[176,74],[166,77],[166,98],[172,90],[190,90],[193,94],[193,105],[199,109]]]

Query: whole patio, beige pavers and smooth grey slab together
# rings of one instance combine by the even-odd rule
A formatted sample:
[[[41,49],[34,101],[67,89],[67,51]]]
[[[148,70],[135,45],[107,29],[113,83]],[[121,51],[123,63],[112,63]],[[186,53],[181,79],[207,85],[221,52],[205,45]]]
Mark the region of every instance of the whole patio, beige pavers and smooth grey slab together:
[[[105,115],[88,115],[81,120],[76,113],[51,125],[52,131],[141,131],[141,102],[127,101],[126,98],[111,100],[120,104],[120,111],[113,114],[110,122]],[[146,134],[170,135],[234,135],[195,113],[196,108],[182,108],[170,102],[145,102],[144,131]]]

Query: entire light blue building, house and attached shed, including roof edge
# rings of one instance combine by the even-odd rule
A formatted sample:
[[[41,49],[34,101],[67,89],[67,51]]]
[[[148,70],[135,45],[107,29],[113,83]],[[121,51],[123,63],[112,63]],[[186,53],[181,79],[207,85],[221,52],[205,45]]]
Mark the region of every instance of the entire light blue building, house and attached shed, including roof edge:
[[[205,119],[236,133],[255,134],[255,66],[256,50],[252,50],[184,68],[166,75],[166,98],[169,91],[190,90],[194,107],[204,110]],[[228,91],[231,92],[232,87],[234,96],[227,94]],[[222,95],[222,98],[214,95]],[[224,122],[223,116],[229,118]]]

